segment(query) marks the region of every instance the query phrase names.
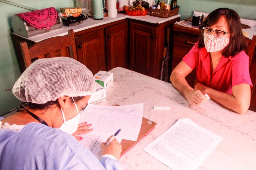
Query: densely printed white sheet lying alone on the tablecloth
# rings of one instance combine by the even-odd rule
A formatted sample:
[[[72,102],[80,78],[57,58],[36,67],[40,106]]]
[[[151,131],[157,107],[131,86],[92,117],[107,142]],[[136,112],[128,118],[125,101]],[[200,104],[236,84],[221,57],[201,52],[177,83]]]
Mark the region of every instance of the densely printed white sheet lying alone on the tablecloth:
[[[193,170],[222,139],[190,119],[179,119],[143,150],[172,170]]]

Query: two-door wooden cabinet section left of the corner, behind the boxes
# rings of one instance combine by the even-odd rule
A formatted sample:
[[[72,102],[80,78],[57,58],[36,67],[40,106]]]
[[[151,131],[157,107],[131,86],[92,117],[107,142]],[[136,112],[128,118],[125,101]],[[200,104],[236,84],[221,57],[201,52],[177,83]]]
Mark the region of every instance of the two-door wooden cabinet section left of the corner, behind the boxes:
[[[128,68],[127,29],[127,20],[123,19],[75,33],[78,61],[92,74]]]

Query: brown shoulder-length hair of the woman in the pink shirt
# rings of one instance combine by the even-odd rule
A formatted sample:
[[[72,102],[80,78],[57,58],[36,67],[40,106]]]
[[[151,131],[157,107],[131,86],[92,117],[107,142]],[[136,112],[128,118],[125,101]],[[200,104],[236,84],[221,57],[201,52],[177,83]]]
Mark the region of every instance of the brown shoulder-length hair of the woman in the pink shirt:
[[[200,29],[214,25],[222,16],[226,18],[230,32],[229,44],[223,49],[222,55],[224,57],[234,56],[247,48],[247,41],[242,32],[240,17],[236,11],[229,8],[218,8],[207,16]],[[204,47],[203,35],[199,37],[198,47]]]

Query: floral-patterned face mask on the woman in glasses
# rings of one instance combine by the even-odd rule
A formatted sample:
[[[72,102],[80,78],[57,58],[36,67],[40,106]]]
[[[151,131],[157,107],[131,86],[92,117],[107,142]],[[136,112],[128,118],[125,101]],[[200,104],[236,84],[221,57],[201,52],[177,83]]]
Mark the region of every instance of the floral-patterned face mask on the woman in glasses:
[[[223,50],[227,47],[228,43],[229,38],[217,38],[204,33],[204,46],[209,53]]]

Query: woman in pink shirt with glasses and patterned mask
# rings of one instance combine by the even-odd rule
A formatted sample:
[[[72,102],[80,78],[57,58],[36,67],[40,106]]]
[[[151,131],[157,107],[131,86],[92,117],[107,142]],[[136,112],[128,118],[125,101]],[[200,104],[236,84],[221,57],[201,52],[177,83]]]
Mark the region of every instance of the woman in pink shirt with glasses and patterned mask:
[[[200,29],[199,41],[172,71],[172,85],[195,106],[210,97],[243,114],[250,106],[252,81],[249,57],[243,51],[247,41],[239,15],[232,9],[216,9],[207,16]],[[194,69],[196,82],[193,89],[185,77]]]

